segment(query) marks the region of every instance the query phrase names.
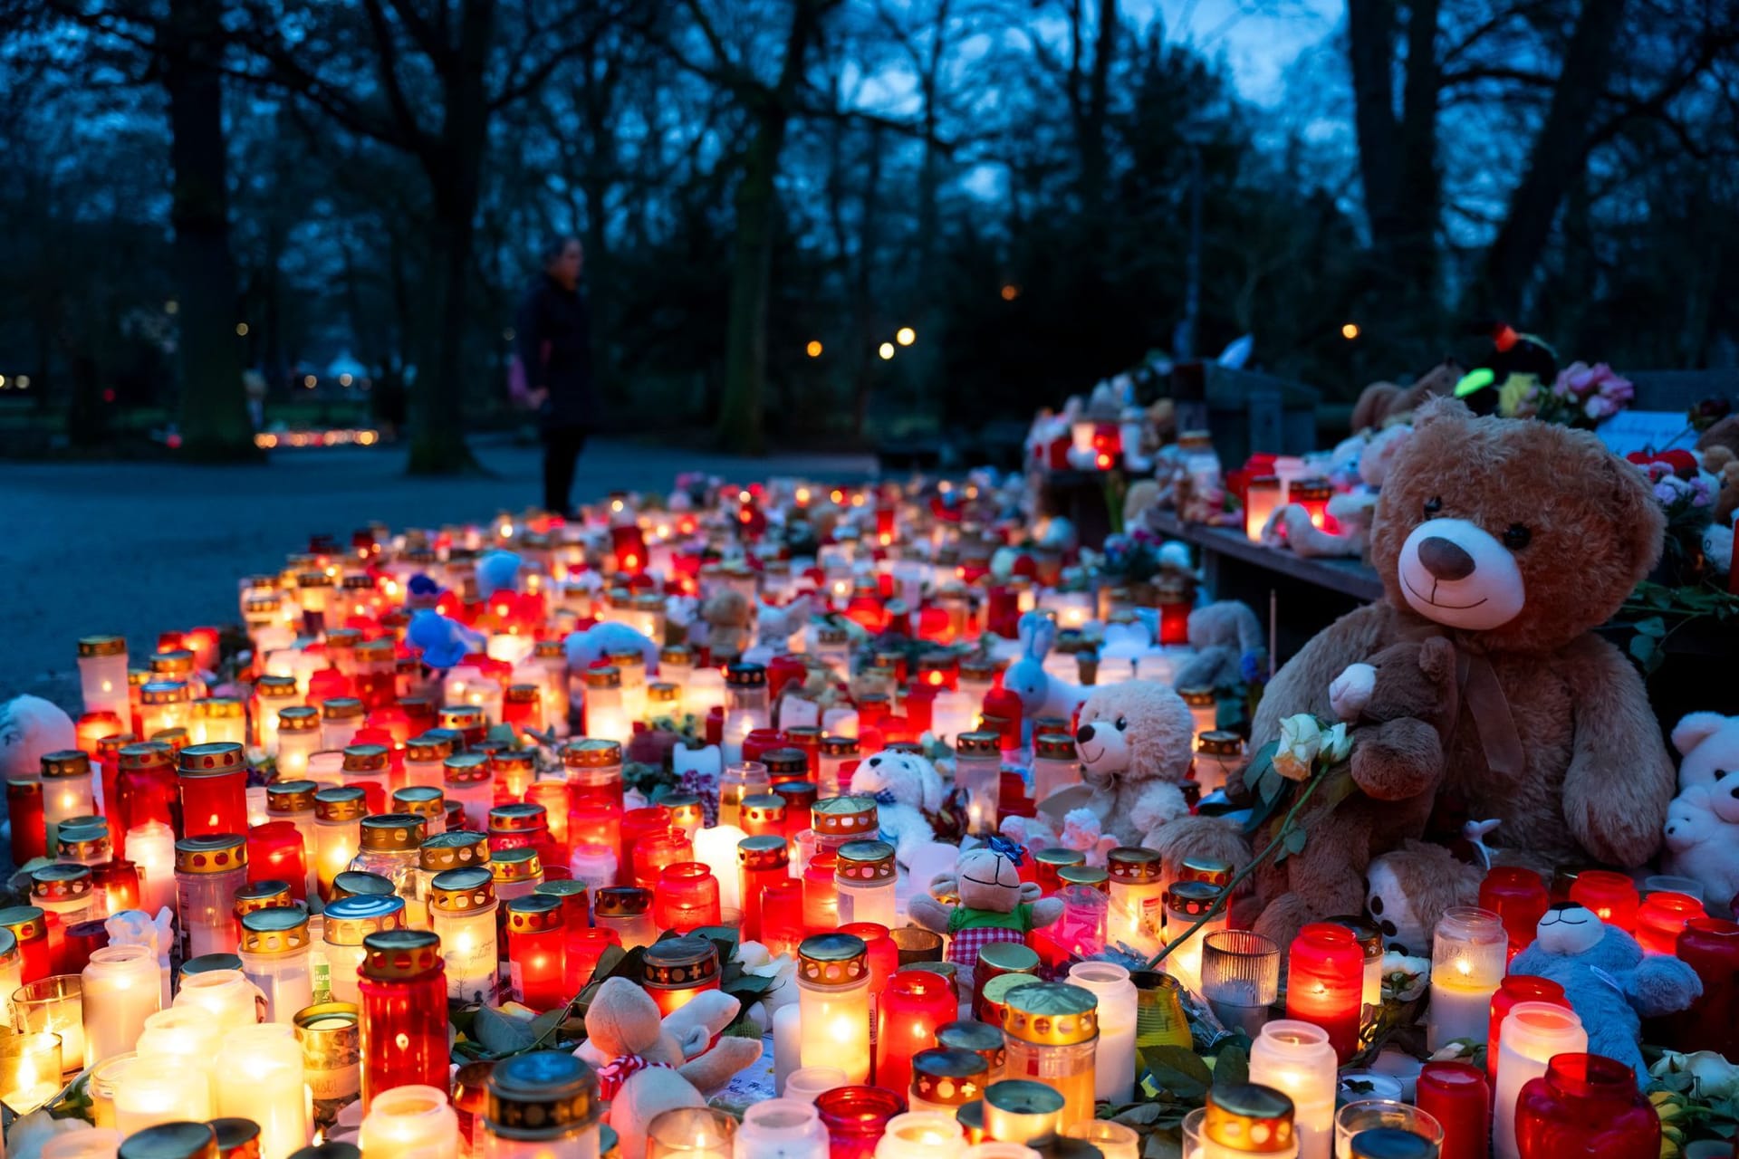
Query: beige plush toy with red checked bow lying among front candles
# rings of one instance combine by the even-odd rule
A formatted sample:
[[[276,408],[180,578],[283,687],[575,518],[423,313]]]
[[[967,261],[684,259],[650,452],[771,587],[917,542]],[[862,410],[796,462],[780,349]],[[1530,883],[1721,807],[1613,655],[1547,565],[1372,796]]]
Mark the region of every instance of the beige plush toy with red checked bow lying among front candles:
[[[623,1142],[623,1159],[645,1154],[647,1124],[708,1095],[760,1058],[758,1039],[718,1037],[741,1003],[722,990],[694,996],[659,1018],[657,1003],[628,978],[607,978],[586,1010],[586,1041],[574,1051],[598,1072],[600,1096]]]

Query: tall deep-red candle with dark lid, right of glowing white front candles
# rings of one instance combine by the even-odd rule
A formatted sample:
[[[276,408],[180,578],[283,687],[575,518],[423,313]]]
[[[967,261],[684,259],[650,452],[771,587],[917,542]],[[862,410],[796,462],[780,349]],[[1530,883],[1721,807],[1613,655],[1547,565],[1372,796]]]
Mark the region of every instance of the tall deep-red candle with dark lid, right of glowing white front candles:
[[[447,1089],[447,978],[440,938],[391,930],[363,938],[362,1103],[395,1086]]]

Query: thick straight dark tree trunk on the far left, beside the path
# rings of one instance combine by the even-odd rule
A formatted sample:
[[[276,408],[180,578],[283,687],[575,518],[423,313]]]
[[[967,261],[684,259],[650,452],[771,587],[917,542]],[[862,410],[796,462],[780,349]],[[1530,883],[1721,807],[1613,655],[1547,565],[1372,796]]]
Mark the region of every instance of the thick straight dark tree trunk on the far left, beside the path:
[[[259,460],[242,389],[230,257],[219,0],[172,0],[165,33],[181,330],[181,450],[202,460]]]

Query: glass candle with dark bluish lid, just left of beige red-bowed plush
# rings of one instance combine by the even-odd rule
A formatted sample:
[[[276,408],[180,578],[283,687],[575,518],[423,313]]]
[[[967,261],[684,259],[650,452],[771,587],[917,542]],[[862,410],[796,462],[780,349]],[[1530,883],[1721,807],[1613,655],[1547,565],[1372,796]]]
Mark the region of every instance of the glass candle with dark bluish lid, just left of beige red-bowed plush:
[[[598,1159],[598,1076],[553,1050],[504,1058],[489,1074],[478,1133],[483,1159]]]

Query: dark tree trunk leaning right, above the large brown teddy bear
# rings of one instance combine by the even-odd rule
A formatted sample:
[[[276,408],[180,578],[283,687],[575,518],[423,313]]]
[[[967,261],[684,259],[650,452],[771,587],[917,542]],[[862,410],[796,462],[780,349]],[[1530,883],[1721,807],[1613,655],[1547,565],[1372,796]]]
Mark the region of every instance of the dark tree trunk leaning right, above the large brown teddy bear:
[[[1584,0],[1570,33],[1558,87],[1534,139],[1527,174],[1511,195],[1504,224],[1485,255],[1485,278],[1469,288],[1475,302],[1501,318],[1522,309],[1563,195],[1588,163],[1588,129],[1622,21],[1624,0]]]

